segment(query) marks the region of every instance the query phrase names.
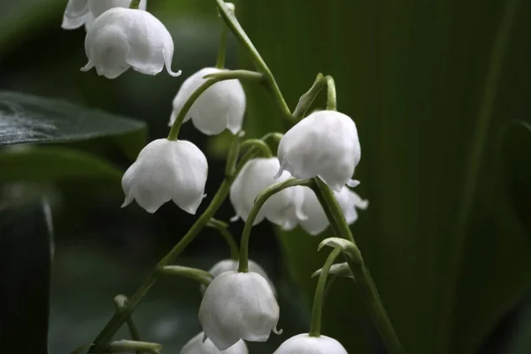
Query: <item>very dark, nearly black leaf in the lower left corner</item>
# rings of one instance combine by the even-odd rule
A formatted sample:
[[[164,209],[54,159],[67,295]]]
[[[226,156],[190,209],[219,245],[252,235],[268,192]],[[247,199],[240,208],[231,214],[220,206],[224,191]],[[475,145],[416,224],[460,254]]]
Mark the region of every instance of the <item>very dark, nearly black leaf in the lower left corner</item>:
[[[5,200],[4,200],[5,202]],[[51,215],[41,198],[0,208],[0,346],[48,353]]]

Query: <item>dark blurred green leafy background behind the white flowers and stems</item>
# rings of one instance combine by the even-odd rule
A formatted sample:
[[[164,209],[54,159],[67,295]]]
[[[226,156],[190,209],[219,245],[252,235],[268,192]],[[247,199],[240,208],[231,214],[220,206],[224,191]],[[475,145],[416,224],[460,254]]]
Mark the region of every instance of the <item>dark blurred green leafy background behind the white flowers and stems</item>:
[[[236,4],[291,109],[316,73],[335,77],[339,110],[356,121],[363,150],[357,191],[370,200],[353,232],[408,352],[530,353],[531,4]],[[137,119],[147,137],[138,123],[120,135],[105,133],[107,116],[89,111],[99,120],[79,129],[96,136],[0,150],[0,347],[17,345],[20,352],[45,352],[47,338],[50,353],[90,342],[112,314],[112,297],[131,294],[193,223],[173,204],[154,215],[136,205],[120,209],[119,176],[146,139],[167,134],[173,96],[189,74],[215,64],[219,41],[213,1],[150,0],[150,12],[173,35],[173,69],[182,76],[130,71],[109,81],[79,71],[85,32],[60,28],[64,8],[59,0],[0,0],[0,90]],[[234,38],[228,53],[227,67],[251,68]],[[283,129],[265,92],[245,89],[248,136]],[[12,124],[6,107],[0,104],[0,137]],[[64,118],[70,114],[80,113],[69,109]],[[227,135],[207,141],[187,124],[181,136],[206,151],[212,196],[223,178]],[[218,219],[232,216],[226,206]],[[242,225],[232,230],[239,235]],[[309,275],[321,265],[325,254],[316,257],[316,248],[327,235],[281,233],[266,224],[253,231],[250,255],[279,288],[284,334],[251,343],[251,352],[271,353],[289,335],[307,331],[315,285]],[[208,268],[227,257],[222,239],[204,230],[179,264]],[[178,352],[200,330],[196,288],[160,281],[135,312],[142,338]],[[351,353],[385,352],[348,280],[335,281],[323,333]]]

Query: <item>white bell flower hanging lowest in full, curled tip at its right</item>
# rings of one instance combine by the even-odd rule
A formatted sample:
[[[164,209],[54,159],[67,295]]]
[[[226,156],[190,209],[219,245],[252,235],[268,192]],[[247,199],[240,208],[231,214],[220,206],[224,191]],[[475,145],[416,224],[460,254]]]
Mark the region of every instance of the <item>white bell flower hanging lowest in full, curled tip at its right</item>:
[[[266,342],[271,331],[279,333],[279,304],[269,283],[258,273],[219,274],[204,292],[199,322],[204,335],[219,350],[241,339]]]

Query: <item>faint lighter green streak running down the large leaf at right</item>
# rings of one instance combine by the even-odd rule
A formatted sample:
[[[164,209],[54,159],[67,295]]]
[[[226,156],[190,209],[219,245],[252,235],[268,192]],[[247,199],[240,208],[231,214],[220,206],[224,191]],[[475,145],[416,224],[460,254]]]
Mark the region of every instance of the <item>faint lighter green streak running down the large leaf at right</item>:
[[[489,69],[487,72],[487,79],[485,81],[485,88],[483,96],[481,98],[481,104],[478,111],[477,126],[473,131],[472,138],[472,150],[470,151],[470,157],[466,166],[465,181],[463,183],[463,194],[461,198],[461,207],[458,213],[458,223],[456,227],[457,247],[454,249],[450,257],[450,269],[448,273],[458,274],[459,268],[465,261],[465,244],[463,241],[466,233],[467,220],[470,217],[470,213],[473,208],[473,200],[476,194],[477,184],[479,181],[478,173],[483,161],[483,146],[487,142],[490,122],[492,121],[492,112],[494,110],[494,104],[496,102],[497,83],[502,74],[502,68],[504,63],[504,56],[506,52],[507,43],[512,31],[512,25],[514,18],[518,13],[519,0],[508,0],[505,2],[504,17],[502,23],[497,30],[494,46],[490,52]],[[450,346],[450,331],[452,330],[451,323],[455,317],[455,305],[457,301],[457,286],[458,277],[450,280],[451,283],[447,284],[447,287],[451,289],[449,297],[445,299],[443,306],[442,323],[439,323],[439,328],[443,331],[440,336],[446,338],[443,340],[443,345],[447,346],[447,349],[442,351],[449,351]]]

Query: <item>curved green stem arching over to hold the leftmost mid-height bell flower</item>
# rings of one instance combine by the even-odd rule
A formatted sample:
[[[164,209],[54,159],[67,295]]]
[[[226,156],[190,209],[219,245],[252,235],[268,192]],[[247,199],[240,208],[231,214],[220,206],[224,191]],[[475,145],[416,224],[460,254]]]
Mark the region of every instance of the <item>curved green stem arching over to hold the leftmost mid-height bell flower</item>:
[[[208,80],[204,81],[204,83],[199,86],[196,91],[194,91],[194,93],[191,94],[186,100],[186,102],[182,105],[181,111],[177,114],[177,117],[173,121],[172,128],[170,129],[170,133],[168,135],[168,140],[177,140],[177,137],[179,135],[179,129],[181,129],[181,124],[186,118],[186,115],[188,114],[190,108],[192,108],[192,105],[196,102],[196,99],[199,98],[199,96],[201,96],[204,91],[210,88],[213,84],[219,81],[234,79],[262,81],[263,78],[264,76],[261,73],[250,72],[248,70],[231,70],[221,73],[211,73],[205,75],[204,79]]]

